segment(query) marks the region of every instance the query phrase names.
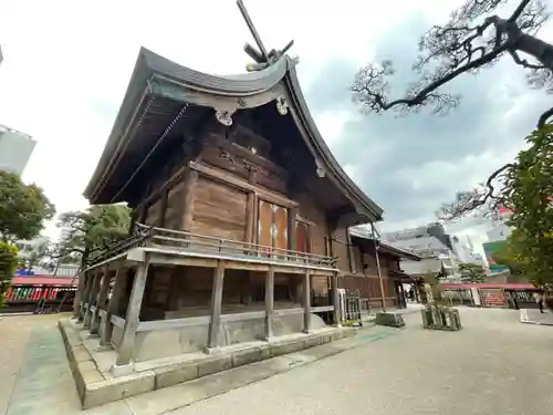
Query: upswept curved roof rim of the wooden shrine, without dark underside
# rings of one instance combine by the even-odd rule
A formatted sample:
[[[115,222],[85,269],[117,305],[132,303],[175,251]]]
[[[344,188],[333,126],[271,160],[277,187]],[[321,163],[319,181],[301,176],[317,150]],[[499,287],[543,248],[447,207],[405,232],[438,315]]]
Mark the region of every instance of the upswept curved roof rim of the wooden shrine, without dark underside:
[[[138,108],[146,95],[178,96],[182,101],[204,106],[221,102],[222,105],[233,106],[234,110],[258,107],[284,95],[313,157],[322,162],[328,177],[343,189],[355,211],[366,216],[368,220],[382,220],[383,209],[347,176],[322,138],[307,110],[294,66],[292,59],[283,56],[262,71],[219,76],[194,71],[147,49],[140,49],[112,133],[84,196],[91,203],[96,203],[98,193],[132,138],[128,131],[132,129],[131,125],[136,123]]]

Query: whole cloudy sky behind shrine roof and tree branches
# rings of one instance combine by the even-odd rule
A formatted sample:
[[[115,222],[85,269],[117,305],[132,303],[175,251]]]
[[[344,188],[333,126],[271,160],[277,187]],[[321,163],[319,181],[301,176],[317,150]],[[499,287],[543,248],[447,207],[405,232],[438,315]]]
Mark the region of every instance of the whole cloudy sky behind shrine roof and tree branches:
[[[441,203],[512,159],[547,107],[547,96],[530,90],[505,60],[451,84],[463,100],[447,116],[359,113],[348,87],[361,65],[393,60],[399,95],[419,37],[446,22],[459,0],[244,3],[268,49],[294,39],[290,54],[301,59],[300,82],[319,129],[384,208],[383,230],[436,220]],[[185,66],[229,74],[244,72],[242,45],[252,42],[234,0],[3,0],[0,15],[0,123],[36,139],[23,179],[40,185],[59,212],[87,206],[82,193],[140,45]],[[483,240],[473,221],[453,230]],[[56,237],[52,224],[46,234]]]

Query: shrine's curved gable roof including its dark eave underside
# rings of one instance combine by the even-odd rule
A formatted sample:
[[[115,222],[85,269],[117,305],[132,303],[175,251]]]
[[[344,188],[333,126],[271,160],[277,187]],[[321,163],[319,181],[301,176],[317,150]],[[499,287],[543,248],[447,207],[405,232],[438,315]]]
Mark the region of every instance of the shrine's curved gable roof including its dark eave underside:
[[[294,91],[299,85],[291,60],[282,59],[262,72],[210,76],[143,50],[127,90],[133,96],[143,90],[142,101],[133,108],[136,97],[125,96],[119,113],[128,120],[122,124],[118,115],[85,196],[92,204],[136,203],[148,172],[177,156],[185,142],[198,139],[194,132],[219,107],[232,117],[251,112],[261,120],[258,134],[273,143],[279,164],[294,172],[291,183],[307,189],[321,207],[342,219],[341,225],[382,220],[382,209],[345,175],[320,137],[301,90]],[[293,106],[288,115],[275,110],[276,96],[286,96]],[[125,115],[129,113],[134,116]],[[315,158],[325,164],[326,177],[316,174]]]

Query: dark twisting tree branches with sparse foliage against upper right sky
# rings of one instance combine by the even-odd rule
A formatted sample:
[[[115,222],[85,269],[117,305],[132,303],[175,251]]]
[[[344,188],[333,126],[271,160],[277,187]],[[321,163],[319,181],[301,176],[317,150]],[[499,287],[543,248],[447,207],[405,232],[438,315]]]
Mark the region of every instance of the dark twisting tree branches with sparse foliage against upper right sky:
[[[500,59],[512,60],[525,71],[532,86],[551,92],[553,45],[536,37],[547,18],[541,0],[466,0],[445,24],[434,25],[421,37],[420,53],[413,64],[418,79],[403,96],[389,96],[395,71],[392,61],[384,61],[357,72],[351,89],[354,98],[366,113],[413,112],[424,106],[446,113],[459,104],[460,95],[445,92],[444,87],[459,76],[492,66]],[[536,112],[539,127],[553,116],[553,107]],[[481,186],[460,191],[455,206],[442,211],[444,219],[458,218],[488,205],[495,180],[511,166],[500,167]]]

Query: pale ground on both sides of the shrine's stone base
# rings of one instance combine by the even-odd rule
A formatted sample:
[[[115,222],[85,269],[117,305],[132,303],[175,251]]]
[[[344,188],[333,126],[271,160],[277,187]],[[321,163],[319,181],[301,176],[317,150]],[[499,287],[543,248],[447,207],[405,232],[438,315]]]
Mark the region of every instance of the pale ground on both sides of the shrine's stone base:
[[[355,349],[300,362],[301,367],[269,378],[260,362],[194,387],[155,391],[82,412],[56,318],[6,318],[0,321],[0,373],[12,375],[2,378],[0,414],[550,414],[553,328],[521,324],[511,310],[462,309],[461,319],[461,332],[432,332],[420,328],[418,313],[410,314],[406,330],[369,329]],[[11,349],[3,353],[7,339]],[[255,376],[265,380],[248,384]],[[238,388],[225,393],[232,387]],[[155,409],[175,408],[177,401],[186,402],[184,395],[217,393],[173,412]]]

